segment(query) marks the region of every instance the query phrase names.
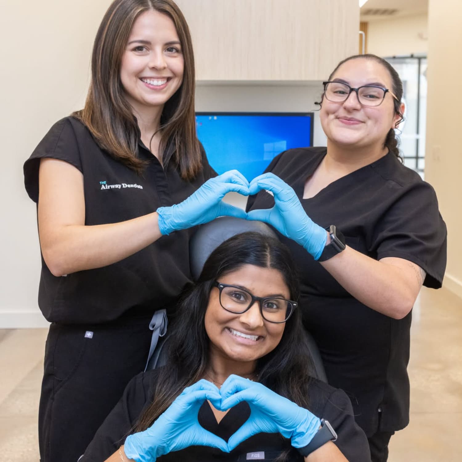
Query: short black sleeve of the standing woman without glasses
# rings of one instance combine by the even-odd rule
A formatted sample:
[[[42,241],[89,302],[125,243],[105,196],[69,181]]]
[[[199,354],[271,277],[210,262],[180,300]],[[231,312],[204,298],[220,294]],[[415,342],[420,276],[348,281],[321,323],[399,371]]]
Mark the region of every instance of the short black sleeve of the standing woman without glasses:
[[[24,163],[24,186],[30,199],[38,202],[38,169],[40,159],[64,160],[82,171],[79,146],[69,117],[56,122]]]

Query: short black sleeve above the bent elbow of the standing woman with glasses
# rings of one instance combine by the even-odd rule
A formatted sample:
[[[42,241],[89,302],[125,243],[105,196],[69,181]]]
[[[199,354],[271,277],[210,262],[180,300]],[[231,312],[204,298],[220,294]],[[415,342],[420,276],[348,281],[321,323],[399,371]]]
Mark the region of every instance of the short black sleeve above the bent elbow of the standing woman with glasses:
[[[446,268],[446,225],[433,188],[418,182],[407,189],[377,223],[371,247],[377,260],[398,257],[425,272],[424,286],[438,289]]]

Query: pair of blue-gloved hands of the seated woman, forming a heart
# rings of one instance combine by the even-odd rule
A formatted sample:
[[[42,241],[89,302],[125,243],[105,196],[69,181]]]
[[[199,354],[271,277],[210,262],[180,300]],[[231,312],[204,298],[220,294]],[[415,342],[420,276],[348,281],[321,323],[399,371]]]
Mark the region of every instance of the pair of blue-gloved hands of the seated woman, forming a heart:
[[[228,443],[199,424],[197,415],[206,399],[222,411],[242,401],[249,404],[249,419]],[[257,433],[280,433],[290,438],[293,447],[301,448],[310,443],[320,425],[321,421],[308,409],[261,383],[231,375],[220,390],[204,379],[184,389],[151,427],[127,437],[124,450],[127,457],[137,462],[154,462],[159,456],[189,446],[210,446],[230,452]]]

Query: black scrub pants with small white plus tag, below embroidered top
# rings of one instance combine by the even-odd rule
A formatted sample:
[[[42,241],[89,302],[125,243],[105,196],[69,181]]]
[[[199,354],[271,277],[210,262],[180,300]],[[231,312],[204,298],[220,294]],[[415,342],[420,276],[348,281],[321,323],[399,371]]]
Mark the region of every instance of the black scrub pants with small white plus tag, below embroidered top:
[[[51,324],[39,407],[41,462],[77,462],[129,380],[146,365],[150,316]]]

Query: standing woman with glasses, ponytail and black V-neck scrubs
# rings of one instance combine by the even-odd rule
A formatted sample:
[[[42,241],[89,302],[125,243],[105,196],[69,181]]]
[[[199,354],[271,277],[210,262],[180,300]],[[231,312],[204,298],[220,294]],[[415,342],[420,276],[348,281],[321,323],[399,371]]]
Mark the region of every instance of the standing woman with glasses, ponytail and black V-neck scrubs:
[[[441,287],[446,226],[433,188],[399,158],[404,105],[393,67],[352,56],[323,85],[327,147],[274,158],[250,184],[248,219],[272,225],[292,250],[303,322],[328,381],[349,395],[372,461],[382,462],[409,421],[411,313],[422,285]]]

